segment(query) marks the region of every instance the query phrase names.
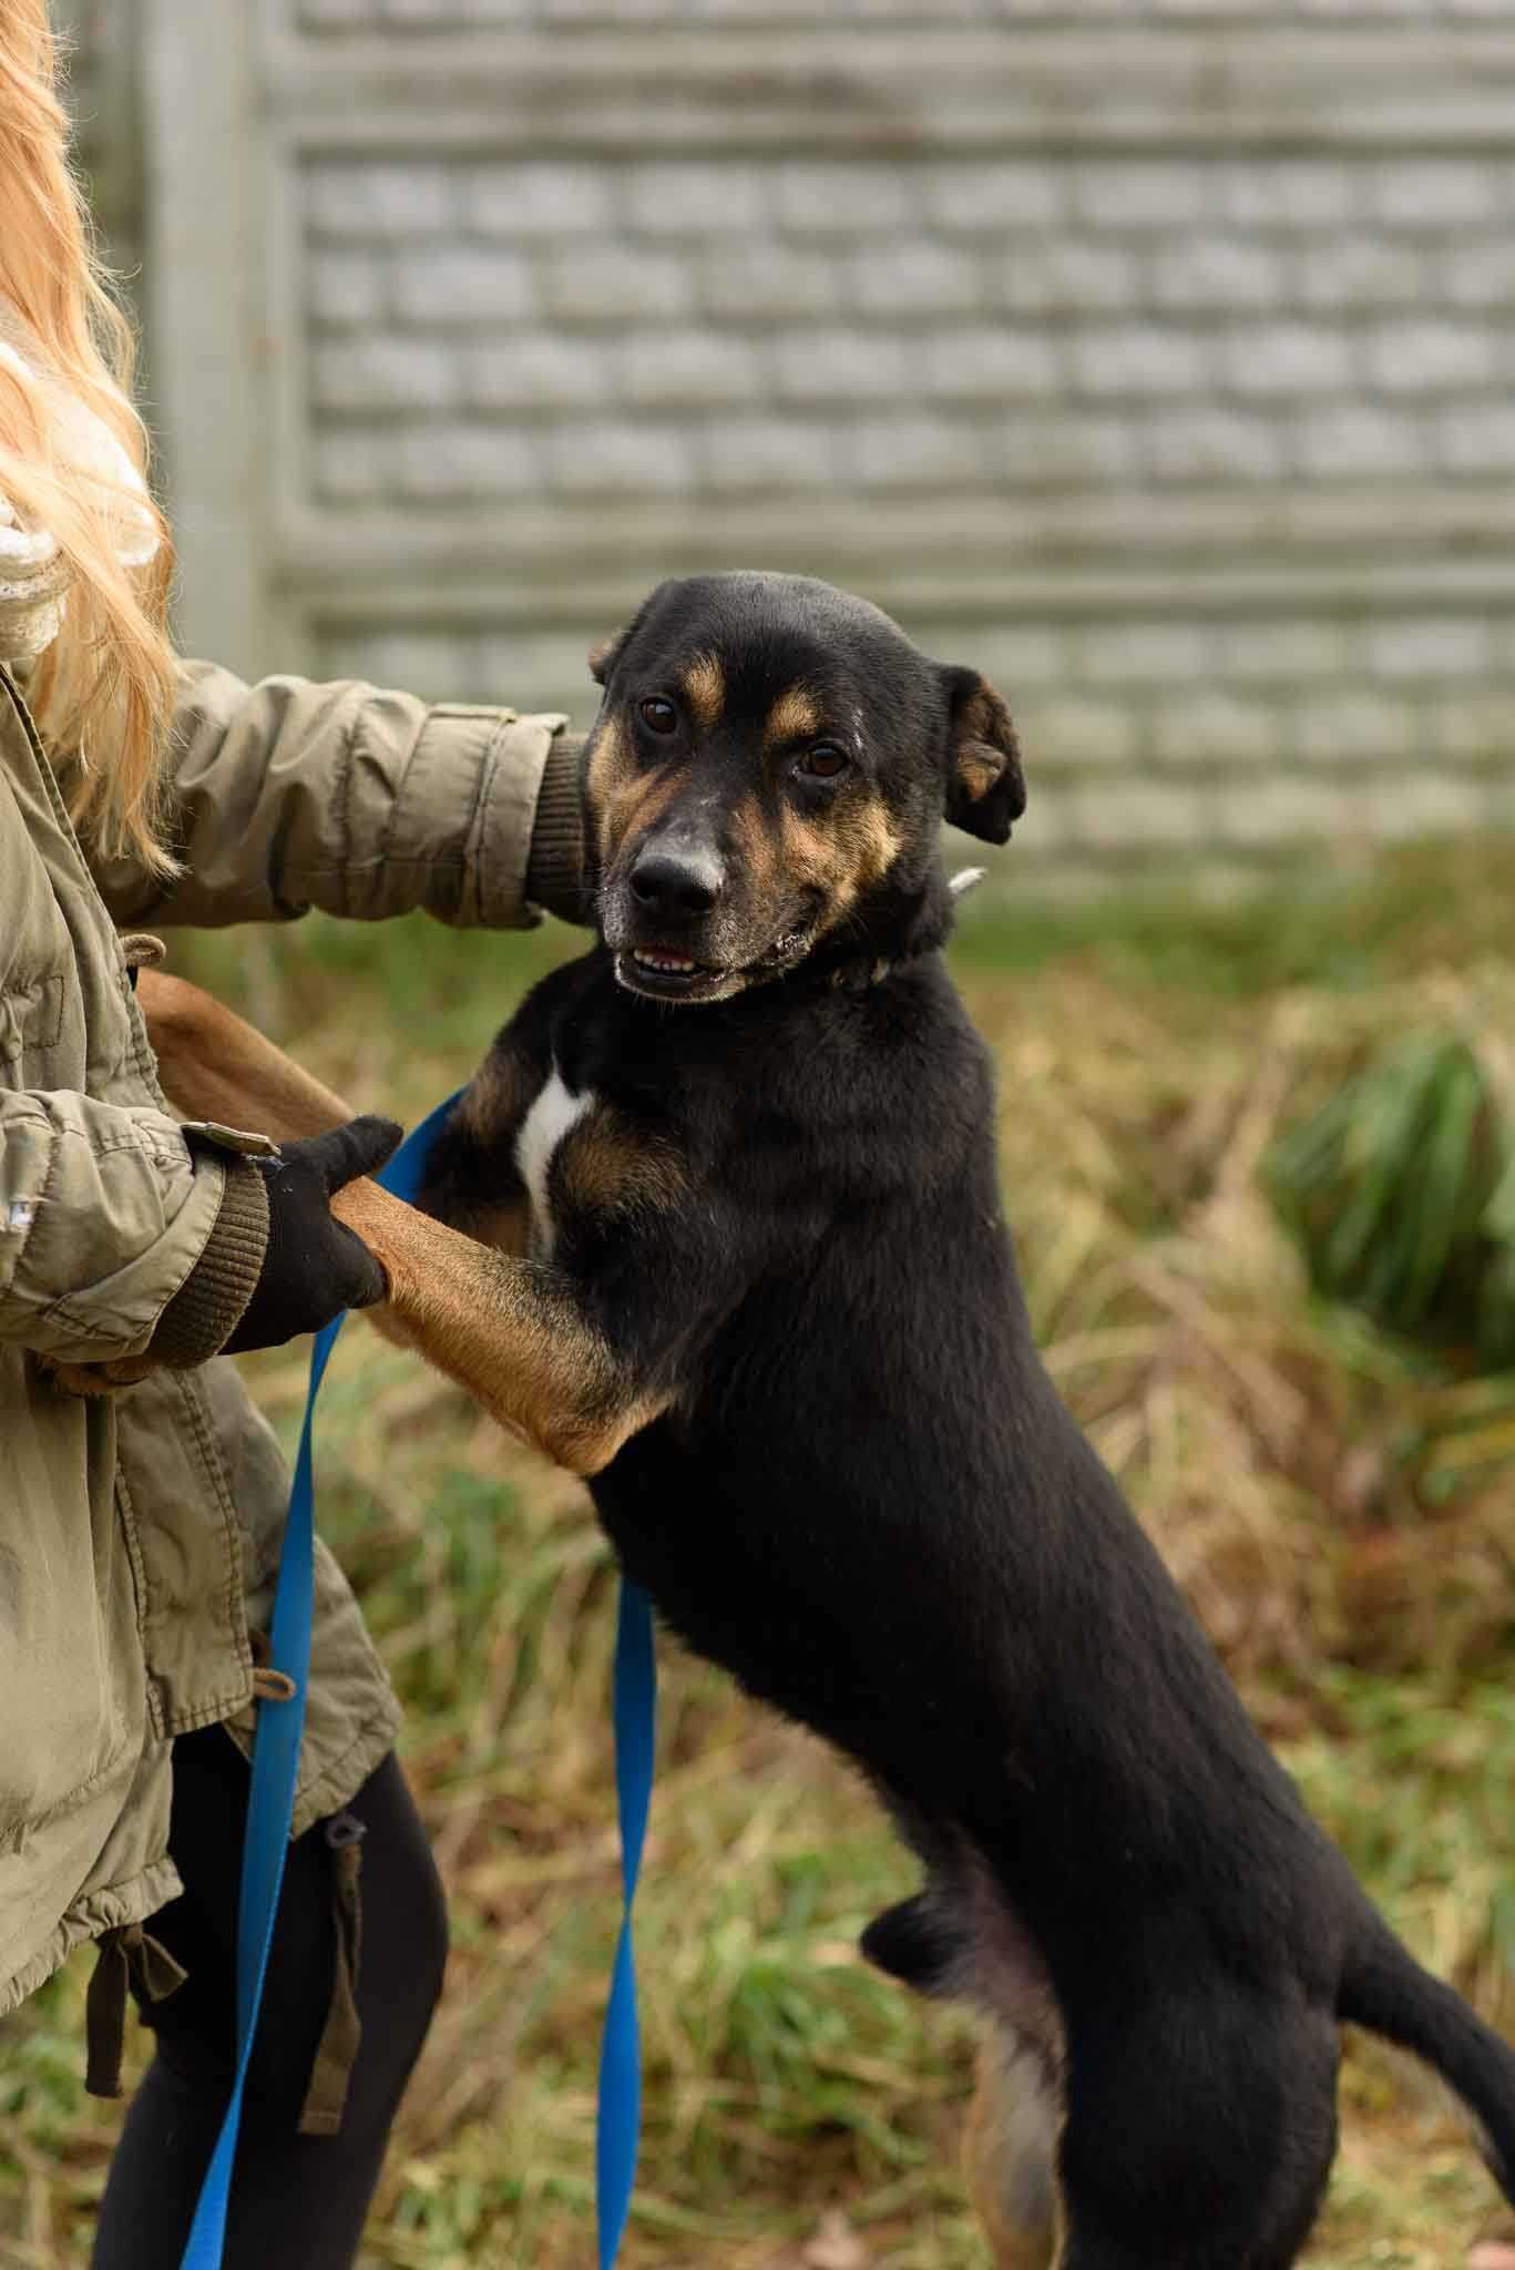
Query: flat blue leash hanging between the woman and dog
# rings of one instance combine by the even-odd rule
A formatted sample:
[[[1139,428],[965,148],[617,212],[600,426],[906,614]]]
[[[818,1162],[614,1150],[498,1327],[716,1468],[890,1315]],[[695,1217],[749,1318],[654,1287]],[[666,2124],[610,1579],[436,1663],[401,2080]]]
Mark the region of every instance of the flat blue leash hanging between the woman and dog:
[[[461,1090],[459,1090],[461,1094]],[[457,1094],[438,1103],[418,1128],[411,1128],[388,1167],[377,1176],[395,1199],[413,1201],[425,1180],[432,1142],[447,1121]],[[300,1734],[304,1730],[304,1689],[311,1671],[311,1591],[316,1553],[316,1491],[311,1466],[311,1423],[316,1396],[345,1321],[334,1317],[311,1348],[311,1385],[300,1426],[295,1478],[288,1494],[284,1555],[273,1600],[270,1662],[293,1680],[286,1702],[259,1700],[252,1739],[252,1786],[248,1796],[248,1830],[243,1841],[241,1895],[236,1909],[236,2075],[232,2097],[211,2163],[204,2170],[195,2220],[184,2245],[179,2270],[220,2270],[232,2195],[236,2132],[248,2084],[248,2059],[273,1918],[284,1882],[284,1855],[295,1811],[295,1777],[300,1771]],[[620,1880],[625,1916],[616,1945],[611,2004],[600,2052],[600,2138],[597,2138],[597,2206],[600,2270],[611,2270],[636,2184],[636,2141],[641,2129],[641,2050],[636,2032],[636,1975],[631,1966],[631,1898],[647,1830],[652,1798],[652,1746],[656,1721],[656,1662],[652,1646],[652,1607],[638,1584],[622,1582],[616,1625],[616,1791],[620,1798]]]

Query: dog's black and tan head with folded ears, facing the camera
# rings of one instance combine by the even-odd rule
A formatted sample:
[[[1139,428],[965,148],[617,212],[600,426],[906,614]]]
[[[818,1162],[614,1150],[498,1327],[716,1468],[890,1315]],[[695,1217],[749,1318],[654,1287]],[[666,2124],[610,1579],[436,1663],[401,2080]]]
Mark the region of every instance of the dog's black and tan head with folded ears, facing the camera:
[[[940,888],[940,819],[1004,842],[1024,808],[993,686],[809,577],[661,583],[591,670],[600,933],[659,1001],[729,999],[822,942],[888,951]]]

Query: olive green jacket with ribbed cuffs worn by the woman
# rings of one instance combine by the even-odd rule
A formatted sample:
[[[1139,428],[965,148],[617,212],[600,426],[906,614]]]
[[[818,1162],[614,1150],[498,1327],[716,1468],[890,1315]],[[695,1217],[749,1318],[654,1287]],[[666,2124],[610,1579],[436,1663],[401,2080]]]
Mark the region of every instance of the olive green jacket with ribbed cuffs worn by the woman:
[[[248,1709],[286,1505],[268,1426],[234,1364],[207,1362],[257,1280],[261,1178],[234,1137],[166,1108],[127,976],[157,949],[129,931],[311,906],[491,926],[536,919],[534,901],[570,913],[561,722],[191,665],[184,876],[166,890],[129,865],[91,874],[0,670],[0,2013],[179,1891],[168,1743]],[[45,1357],[148,1342],[173,1369],[118,1396],[48,1380]],[[393,1732],[323,1553],[295,1830],[341,1809]]]

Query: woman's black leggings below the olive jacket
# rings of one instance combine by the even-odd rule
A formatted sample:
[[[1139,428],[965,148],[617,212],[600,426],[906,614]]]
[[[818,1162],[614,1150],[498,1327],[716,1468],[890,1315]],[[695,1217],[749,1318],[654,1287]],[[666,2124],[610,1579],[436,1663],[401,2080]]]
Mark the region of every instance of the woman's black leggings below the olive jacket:
[[[248,1766],[220,1727],[175,1743],[168,1850],[184,1898],[148,1923],[189,1977],[143,2011],[157,2054],[111,2161],[93,2270],[173,2270],[232,2082],[236,1880]],[[325,1823],[288,1848],[232,2177],[225,2270],[350,2270],[388,2127],[441,1993],[447,1914],[393,1757],[348,1807],[363,1823],[363,2025],[334,2136],[298,2134],[336,1966]]]

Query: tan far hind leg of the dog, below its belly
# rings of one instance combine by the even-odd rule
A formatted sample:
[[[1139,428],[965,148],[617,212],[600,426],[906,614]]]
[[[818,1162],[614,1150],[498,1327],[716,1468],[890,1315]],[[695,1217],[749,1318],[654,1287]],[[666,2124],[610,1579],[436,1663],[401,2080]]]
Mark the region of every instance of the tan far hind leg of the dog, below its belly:
[[[990,2025],[979,2045],[963,2161],[995,2270],[1054,2270],[1063,2261],[1061,2125],[1040,2048]]]

